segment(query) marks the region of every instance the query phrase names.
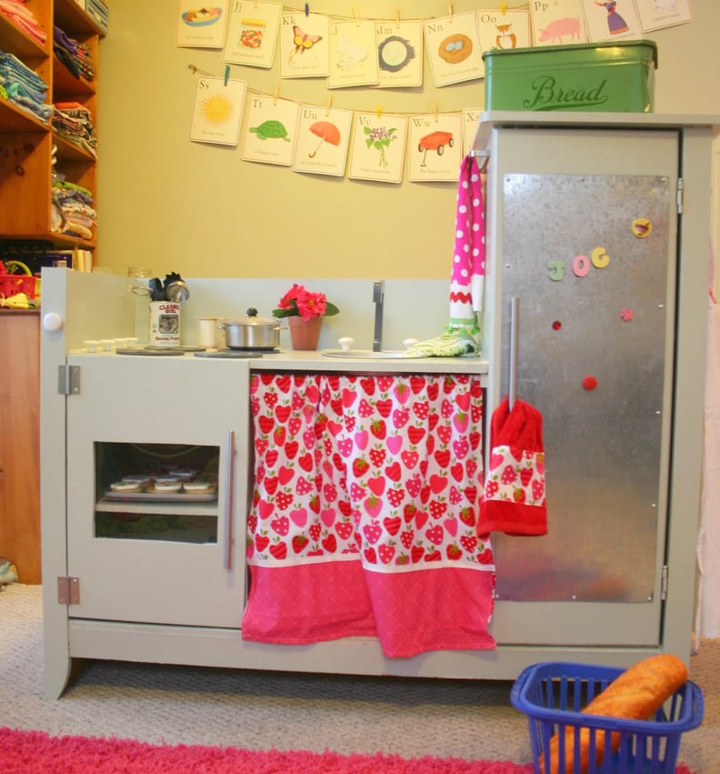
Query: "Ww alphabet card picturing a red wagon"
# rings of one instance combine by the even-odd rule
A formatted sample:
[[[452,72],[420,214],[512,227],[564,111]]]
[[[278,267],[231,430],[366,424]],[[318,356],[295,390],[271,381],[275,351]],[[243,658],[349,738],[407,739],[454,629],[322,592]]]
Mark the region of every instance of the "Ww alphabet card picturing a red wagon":
[[[456,183],[463,153],[463,116],[410,116],[407,179]]]

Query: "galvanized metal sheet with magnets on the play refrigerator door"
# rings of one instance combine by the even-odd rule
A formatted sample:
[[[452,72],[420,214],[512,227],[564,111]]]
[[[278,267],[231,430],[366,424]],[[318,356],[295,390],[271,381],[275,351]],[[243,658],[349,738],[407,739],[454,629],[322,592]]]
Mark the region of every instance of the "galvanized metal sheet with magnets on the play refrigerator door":
[[[502,392],[515,297],[516,394],[543,415],[549,532],[495,538],[497,597],[648,601],[665,497],[668,180],[508,174],[503,206]]]

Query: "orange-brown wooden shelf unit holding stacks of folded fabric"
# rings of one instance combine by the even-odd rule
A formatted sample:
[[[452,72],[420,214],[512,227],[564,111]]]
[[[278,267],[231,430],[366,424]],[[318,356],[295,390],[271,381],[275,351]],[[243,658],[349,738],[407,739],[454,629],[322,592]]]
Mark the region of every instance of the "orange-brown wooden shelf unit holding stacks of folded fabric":
[[[29,35],[7,16],[0,14],[0,50],[15,55],[48,85],[47,102],[77,102],[96,116],[97,46],[101,28],[75,0],[29,0],[47,37],[44,43]],[[75,77],[53,54],[53,26],[88,46],[95,66],[95,80]],[[54,170],[68,182],[96,193],[96,160],[90,152],[57,136],[50,124],[6,100],[0,100],[0,195],[12,203],[0,212],[0,237],[50,240],[56,247],[79,244],[95,246],[91,240],[63,236],[51,228],[51,176]]]

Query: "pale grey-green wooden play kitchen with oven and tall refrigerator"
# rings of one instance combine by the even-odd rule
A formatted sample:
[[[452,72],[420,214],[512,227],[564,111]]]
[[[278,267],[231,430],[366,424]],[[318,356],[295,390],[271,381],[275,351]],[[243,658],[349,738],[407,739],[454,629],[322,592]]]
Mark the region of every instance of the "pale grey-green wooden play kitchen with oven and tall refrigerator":
[[[281,352],[238,366],[188,355],[176,361],[80,355],[76,350],[84,338],[129,330],[130,316],[116,304],[123,280],[52,270],[59,274],[44,281],[42,334],[46,694],[62,693],[75,658],[460,679],[515,679],[522,668],[545,659],[627,666],[661,651],[687,658],[702,450],[707,162],[714,124],[608,114],[485,116],[476,145],[488,157],[481,358],[368,362]],[[599,194],[582,209],[589,192]],[[643,236],[648,225],[652,237]],[[585,241],[575,245],[575,239]],[[597,246],[605,248],[603,254],[594,254]],[[635,262],[640,287],[633,272],[623,275],[620,266],[605,264],[605,256]],[[569,266],[562,287],[548,276],[558,262]],[[654,267],[651,276],[645,274],[648,266]],[[605,276],[592,276],[593,271]],[[611,287],[599,301],[570,286],[600,279]],[[197,314],[216,314],[220,286],[223,294],[242,296],[244,281],[234,283],[191,282]],[[358,284],[337,281],[333,297],[357,297]],[[446,292],[442,284],[439,320],[433,322],[439,329]],[[408,306],[393,308],[399,317],[413,310],[411,294],[405,296]],[[515,298],[519,314],[511,324]],[[619,305],[618,315],[632,309],[635,324],[618,333],[615,315],[599,311],[611,304]],[[338,306],[347,319],[361,318],[342,301]],[[425,317],[433,308],[422,307]],[[370,311],[365,310],[368,320]],[[592,335],[580,337],[578,331],[588,326]],[[527,327],[536,331],[535,341],[525,336]],[[546,337],[560,331],[567,335],[565,347],[555,337],[548,348]],[[362,332],[343,334],[359,338]],[[623,336],[635,337],[636,346]],[[615,359],[605,357],[605,350]],[[575,361],[581,373],[575,373]],[[80,367],[76,389],[67,366]],[[69,381],[60,392],[58,368]],[[489,630],[496,649],[386,658],[367,637],[302,646],[242,638],[247,581],[241,578],[245,552],[236,544],[245,545],[252,488],[247,486],[250,401],[247,383],[241,382],[257,373],[308,372],[479,374],[486,426],[507,392],[541,408],[549,534],[494,537],[497,595]],[[595,389],[585,377],[595,377]],[[179,384],[185,380],[186,386]],[[635,391],[642,395],[631,400]],[[587,400],[598,396],[602,405]],[[579,400],[585,408],[578,416]],[[625,413],[625,402],[635,414]],[[565,411],[558,414],[559,408]],[[588,435],[593,410],[595,432]],[[231,480],[225,473],[228,431],[235,433],[229,522],[220,506]],[[484,442],[486,457],[487,431]],[[153,537],[97,535],[98,519],[103,524],[115,519],[119,523],[111,521],[111,528],[119,533],[138,513],[161,515],[150,504],[135,503],[118,518],[115,503],[105,501],[112,476],[98,468],[98,454],[116,444],[151,453],[165,445],[197,446],[210,457],[217,454],[218,504],[199,508],[202,518],[215,519],[207,538],[165,540],[162,531]],[[58,464],[65,450],[66,469]],[[172,516],[178,513],[172,508]],[[228,530],[235,538],[229,570],[223,548]],[[78,600],[72,597],[73,578],[79,578]]]

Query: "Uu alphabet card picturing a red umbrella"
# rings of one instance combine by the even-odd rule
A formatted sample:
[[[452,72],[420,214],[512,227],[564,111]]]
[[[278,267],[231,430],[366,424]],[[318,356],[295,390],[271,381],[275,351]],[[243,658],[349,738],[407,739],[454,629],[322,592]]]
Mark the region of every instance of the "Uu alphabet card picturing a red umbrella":
[[[344,176],[352,124],[352,110],[304,105],[297,123],[295,172]]]

